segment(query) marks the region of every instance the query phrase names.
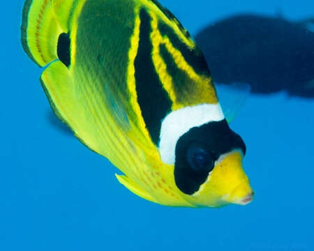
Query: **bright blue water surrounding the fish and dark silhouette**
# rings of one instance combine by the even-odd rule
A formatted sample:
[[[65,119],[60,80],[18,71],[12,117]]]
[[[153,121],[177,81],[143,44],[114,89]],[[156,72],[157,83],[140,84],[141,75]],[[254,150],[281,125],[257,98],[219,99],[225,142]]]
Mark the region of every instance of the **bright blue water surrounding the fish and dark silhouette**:
[[[251,96],[232,122],[248,149],[244,169],[256,193],[248,206],[153,204],[120,185],[105,158],[51,126],[41,70],[20,45],[23,2],[3,1],[0,15],[1,251],[314,250],[313,100]],[[161,3],[192,34],[235,13],[314,16],[313,0]]]

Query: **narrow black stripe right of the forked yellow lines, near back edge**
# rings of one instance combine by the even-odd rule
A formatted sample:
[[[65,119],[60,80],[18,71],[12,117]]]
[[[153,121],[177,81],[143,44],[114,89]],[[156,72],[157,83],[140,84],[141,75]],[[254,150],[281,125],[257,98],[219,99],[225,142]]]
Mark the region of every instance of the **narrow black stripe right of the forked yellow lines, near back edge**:
[[[170,39],[172,45],[181,52],[182,56],[186,62],[193,67],[195,73],[199,75],[207,75],[210,76],[211,73],[207,66],[207,62],[202,54],[201,50],[197,45],[195,45],[195,49],[190,50],[188,45],[183,43],[177,36],[176,33],[171,29],[170,26],[167,26],[164,22],[158,22],[158,29],[162,36],[167,36]]]

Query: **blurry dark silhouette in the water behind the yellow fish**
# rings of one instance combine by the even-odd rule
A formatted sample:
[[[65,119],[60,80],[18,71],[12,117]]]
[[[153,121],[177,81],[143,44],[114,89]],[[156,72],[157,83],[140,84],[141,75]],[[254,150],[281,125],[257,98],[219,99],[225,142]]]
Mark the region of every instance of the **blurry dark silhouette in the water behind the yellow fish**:
[[[209,24],[195,40],[215,82],[314,98],[314,33],[306,29],[311,22],[237,15]]]

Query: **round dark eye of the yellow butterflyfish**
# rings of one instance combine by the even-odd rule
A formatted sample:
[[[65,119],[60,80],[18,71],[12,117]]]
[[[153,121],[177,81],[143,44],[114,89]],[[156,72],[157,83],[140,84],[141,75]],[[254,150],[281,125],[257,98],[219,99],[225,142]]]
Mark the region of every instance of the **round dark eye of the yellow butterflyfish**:
[[[214,160],[202,146],[190,144],[186,151],[186,161],[195,172],[211,172],[214,169]]]

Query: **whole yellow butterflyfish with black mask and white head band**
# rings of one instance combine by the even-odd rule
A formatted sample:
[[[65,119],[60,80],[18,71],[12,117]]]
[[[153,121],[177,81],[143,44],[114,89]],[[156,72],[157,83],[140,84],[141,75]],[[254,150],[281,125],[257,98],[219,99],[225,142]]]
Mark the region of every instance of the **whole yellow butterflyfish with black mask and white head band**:
[[[247,204],[246,146],[230,130],[207,63],[180,22],[152,0],[27,0],[22,45],[45,68],[55,114],[166,206]]]

